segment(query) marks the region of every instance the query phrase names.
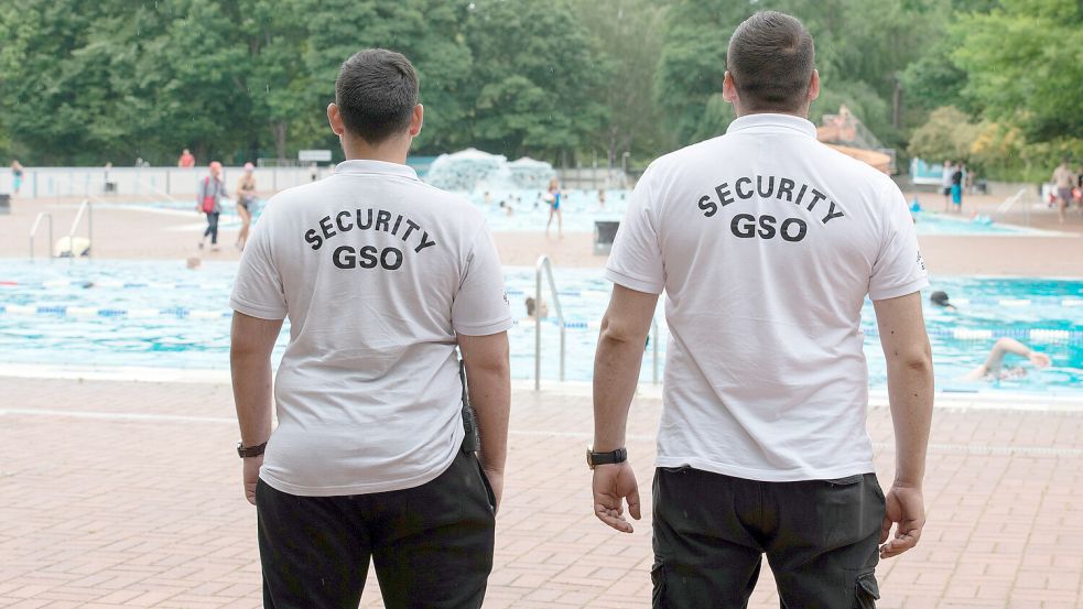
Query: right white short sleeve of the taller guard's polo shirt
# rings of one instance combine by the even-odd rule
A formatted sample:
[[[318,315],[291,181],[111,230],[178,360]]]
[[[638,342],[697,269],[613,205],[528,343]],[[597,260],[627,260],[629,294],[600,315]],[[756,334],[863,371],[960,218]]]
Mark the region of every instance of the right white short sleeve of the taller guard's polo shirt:
[[[890,203],[884,217],[880,251],[868,282],[868,295],[874,301],[906,296],[929,286],[907,199],[894,184],[884,196]]]

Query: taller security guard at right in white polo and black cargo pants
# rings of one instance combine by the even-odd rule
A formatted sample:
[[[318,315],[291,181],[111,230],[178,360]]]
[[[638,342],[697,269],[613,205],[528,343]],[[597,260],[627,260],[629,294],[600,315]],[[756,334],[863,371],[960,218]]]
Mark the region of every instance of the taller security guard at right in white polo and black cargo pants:
[[[738,118],[651,163],[607,264],[587,463],[594,513],[621,532],[641,513],[628,411],[667,294],[654,607],[745,607],[763,554],[784,607],[873,607],[878,559],[921,536],[933,399],[925,270],[899,188],[816,141],[813,58],[797,19],[743,22],[723,84]],[[886,496],[866,432],[866,295],[897,445]]]

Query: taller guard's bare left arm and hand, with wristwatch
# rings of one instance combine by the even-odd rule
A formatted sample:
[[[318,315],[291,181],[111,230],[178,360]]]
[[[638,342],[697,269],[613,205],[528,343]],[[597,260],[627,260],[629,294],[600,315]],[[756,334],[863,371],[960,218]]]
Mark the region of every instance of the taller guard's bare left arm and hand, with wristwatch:
[[[658,294],[613,286],[594,357],[595,452],[608,453],[625,446],[628,410],[639,382],[643,347],[657,304]],[[593,487],[594,514],[617,531],[631,533],[622,507],[622,500],[627,499],[628,512],[639,520],[639,486],[631,465],[625,461],[597,466]]]

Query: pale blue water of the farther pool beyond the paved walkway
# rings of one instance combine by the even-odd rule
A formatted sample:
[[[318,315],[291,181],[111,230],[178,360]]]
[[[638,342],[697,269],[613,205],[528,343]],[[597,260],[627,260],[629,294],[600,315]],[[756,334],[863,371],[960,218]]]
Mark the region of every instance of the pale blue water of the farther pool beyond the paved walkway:
[[[489,193],[486,203],[485,193],[459,193],[474,203],[485,214],[489,228],[496,232],[521,232],[544,230],[549,222],[549,204],[541,200],[540,191],[494,191]],[[598,199],[598,191],[573,189],[567,192],[566,199],[561,204],[562,219],[565,232],[592,232],[596,220],[619,221],[628,208],[629,191],[607,191],[605,203]],[[266,202],[264,202],[266,203]],[[501,207],[500,204],[503,204]],[[124,204],[106,204],[124,205]],[[129,204],[130,205],[130,204]],[[195,214],[195,204],[188,202],[159,202],[136,204],[144,208],[170,209],[192,213],[193,221],[202,218]],[[253,217],[259,219],[262,204],[253,209]],[[511,213],[508,213],[508,209]],[[974,221],[966,217],[919,211],[914,214],[914,227],[918,235],[1033,235],[1028,228],[996,222]],[[223,227],[239,226],[237,208],[231,202],[223,205]],[[556,219],[553,219],[552,231],[556,232]]]

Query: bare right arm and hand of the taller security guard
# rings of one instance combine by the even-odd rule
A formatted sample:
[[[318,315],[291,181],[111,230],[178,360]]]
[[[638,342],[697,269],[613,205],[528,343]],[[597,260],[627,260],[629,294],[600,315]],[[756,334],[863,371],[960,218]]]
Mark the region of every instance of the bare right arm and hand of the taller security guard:
[[[880,344],[887,358],[888,400],[895,425],[895,481],[887,498],[880,542],[887,541],[891,523],[895,539],[880,548],[882,557],[910,550],[924,525],[921,483],[925,474],[925,449],[932,424],[932,352],[921,315],[921,294],[876,301]]]

